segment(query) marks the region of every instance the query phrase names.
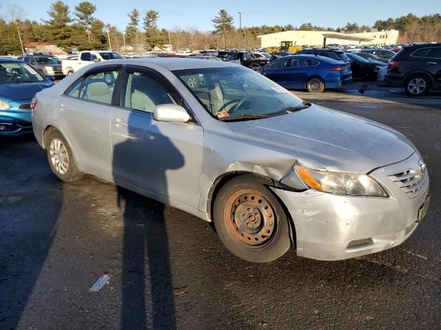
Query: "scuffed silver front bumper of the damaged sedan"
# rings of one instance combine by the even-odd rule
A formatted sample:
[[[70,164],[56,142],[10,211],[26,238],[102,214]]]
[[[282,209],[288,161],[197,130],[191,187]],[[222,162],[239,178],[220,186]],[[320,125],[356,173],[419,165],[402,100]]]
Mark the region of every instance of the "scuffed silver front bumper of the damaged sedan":
[[[298,256],[335,261],[404,242],[418,225],[418,210],[429,194],[429,177],[418,196],[410,198],[388,175],[414,168],[418,159],[414,153],[403,162],[370,173],[387,190],[388,198],[273,188],[294,221]]]

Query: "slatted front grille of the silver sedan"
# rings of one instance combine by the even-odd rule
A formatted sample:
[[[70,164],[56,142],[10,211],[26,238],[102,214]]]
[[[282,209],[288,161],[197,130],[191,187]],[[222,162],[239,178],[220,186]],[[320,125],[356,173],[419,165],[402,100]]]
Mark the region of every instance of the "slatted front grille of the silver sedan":
[[[389,179],[395,182],[410,198],[416,198],[422,194],[427,186],[427,178],[427,170],[422,172],[415,168],[389,175]]]

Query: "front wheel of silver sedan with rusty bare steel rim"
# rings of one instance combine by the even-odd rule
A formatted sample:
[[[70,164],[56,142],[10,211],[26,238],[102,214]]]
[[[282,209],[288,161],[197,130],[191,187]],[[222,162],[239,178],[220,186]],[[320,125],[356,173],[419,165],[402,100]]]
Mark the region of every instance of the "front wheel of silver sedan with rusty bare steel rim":
[[[252,175],[235,177],[220,188],[213,218],[220,241],[246,261],[267,263],[291,246],[285,210]]]

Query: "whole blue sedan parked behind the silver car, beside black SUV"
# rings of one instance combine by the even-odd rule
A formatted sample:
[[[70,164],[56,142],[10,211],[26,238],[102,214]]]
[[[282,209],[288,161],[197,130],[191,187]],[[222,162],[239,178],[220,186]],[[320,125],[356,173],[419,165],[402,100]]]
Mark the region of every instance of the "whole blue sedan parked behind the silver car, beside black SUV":
[[[287,89],[321,93],[352,80],[351,63],[316,55],[291,55],[261,67],[260,74]]]

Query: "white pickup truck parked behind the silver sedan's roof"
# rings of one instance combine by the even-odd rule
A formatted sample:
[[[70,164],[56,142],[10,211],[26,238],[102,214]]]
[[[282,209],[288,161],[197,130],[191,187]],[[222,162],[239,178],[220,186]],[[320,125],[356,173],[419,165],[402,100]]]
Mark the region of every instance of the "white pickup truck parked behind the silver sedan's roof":
[[[85,50],[80,52],[78,56],[61,61],[61,67],[65,76],[69,76],[85,65],[99,61],[114,60],[116,58],[123,58],[123,56],[109,50]]]

